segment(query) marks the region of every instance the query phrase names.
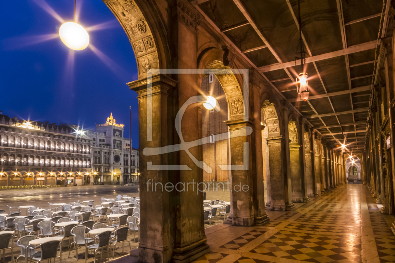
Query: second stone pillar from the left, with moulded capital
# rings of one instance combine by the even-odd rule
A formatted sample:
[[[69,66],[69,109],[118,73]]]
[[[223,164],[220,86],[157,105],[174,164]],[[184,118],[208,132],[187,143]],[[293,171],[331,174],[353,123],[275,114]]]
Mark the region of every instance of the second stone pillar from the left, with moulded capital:
[[[250,121],[226,121],[229,131],[239,129],[253,129]],[[254,197],[253,186],[253,158],[252,158],[252,138],[251,135],[237,136],[230,138],[231,165],[244,165],[243,169],[232,170],[232,225],[233,226],[253,226],[254,225]],[[247,151],[247,153],[245,153]],[[246,160],[246,157],[248,159]],[[245,162],[248,163],[245,163]],[[247,189],[248,190],[245,190]],[[261,211],[260,211],[261,212]],[[264,215],[267,215],[263,209]],[[262,218],[263,219],[263,218]],[[260,219],[258,219],[260,220]],[[263,219],[264,220],[264,219]],[[267,220],[267,219],[266,219]]]

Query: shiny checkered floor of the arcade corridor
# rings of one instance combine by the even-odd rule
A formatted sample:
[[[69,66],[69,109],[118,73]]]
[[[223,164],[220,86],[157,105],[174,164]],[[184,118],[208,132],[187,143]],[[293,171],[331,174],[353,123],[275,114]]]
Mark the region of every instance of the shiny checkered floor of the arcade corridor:
[[[318,198],[310,198],[308,203],[295,205],[280,216],[279,212],[267,211],[275,219],[264,226],[246,229],[244,233],[243,228],[237,228],[242,234],[235,234],[230,241],[226,238],[222,243],[214,242],[211,253],[195,262],[395,262],[395,237],[365,185],[340,185]],[[361,213],[362,207],[365,212],[368,208],[369,218],[367,213]],[[371,224],[370,240],[376,244],[365,244],[371,253],[364,255],[376,255],[375,258],[362,259],[362,237],[371,231],[361,231],[361,222],[364,226]],[[224,237],[229,237],[231,228],[224,229]]]

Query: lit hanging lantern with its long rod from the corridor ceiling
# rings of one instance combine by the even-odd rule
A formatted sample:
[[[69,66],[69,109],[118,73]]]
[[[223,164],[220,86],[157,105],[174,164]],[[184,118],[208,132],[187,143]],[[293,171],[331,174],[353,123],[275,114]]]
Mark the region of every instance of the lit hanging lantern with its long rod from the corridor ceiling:
[[[306,52],[303,51],[303,40],[302,40],[302,23],[301,23],[301,18],[300,18],[300,0],[297,1],[297,8],[299,12],[299,46],[300,46],[300,58],[295,57],[295,68],[296,68],[296,60],[300,59],[301,61],[301,69],[302,73],[299,73],[299,75],[296,77],[296,88],[297,88],[297,93],[301,95],[301,98],[304,101],[308,100],[308,82],[307,82],[307,77],[308,74],[304,71],[303,64],[306,63],[306,57],[305,54]]]

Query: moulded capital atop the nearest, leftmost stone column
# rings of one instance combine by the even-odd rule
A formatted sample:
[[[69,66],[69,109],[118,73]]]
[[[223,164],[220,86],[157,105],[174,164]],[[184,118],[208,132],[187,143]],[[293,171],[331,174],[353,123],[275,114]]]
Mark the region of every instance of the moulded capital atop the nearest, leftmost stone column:
[[[135,80],[127,83],[131,90],[137,92],[137,99],[147,97],[148,84],[152,84],[151,94],[155,95],[158,93],[163,93],[165,95],[170,95],[177,86],[177,81],[169,78],[166,75],[158,74],[152,75],[152,78],[143,78],[140,80]]]

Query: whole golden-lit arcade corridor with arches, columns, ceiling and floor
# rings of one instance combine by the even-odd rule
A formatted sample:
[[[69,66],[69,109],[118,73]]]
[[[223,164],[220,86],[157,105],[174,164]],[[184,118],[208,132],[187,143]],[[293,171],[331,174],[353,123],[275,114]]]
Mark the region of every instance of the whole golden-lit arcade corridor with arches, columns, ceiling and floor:
[[[382,215],[393,215],[393,188],[386,188],[394,174],[392,139],[386,159],[379,154],[384,136],[392,138],[389,2],[368,1],[354,13],[355,3],[302,3],[301,12],[313,18],[303,24],[300,42],[308,101],[294,85],[300,62],[293,1],[103,2],[137,61],[138,80],[128,86],[139,101],[139,261],[381,260],[379,246],[395,241]],[[382,7],[382,15],[363,19]],[[384,26],[377,17],[385,17]],[[350,23],[367,33],[346,28]],[[374,69],[380,70],[368,75]],[[216,99],[211,110],[203,105],[207,95]],[[370,141],[360,136],[366,132]],[[346,170],[353,158],[358,179]],[[229,181],[230,211],[223,224],[205,228],[203,184],[196,183],[212,181]],[[169,183],[183,190],[154,190]]]

